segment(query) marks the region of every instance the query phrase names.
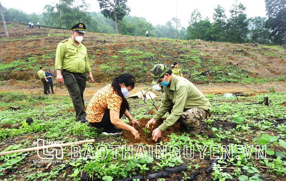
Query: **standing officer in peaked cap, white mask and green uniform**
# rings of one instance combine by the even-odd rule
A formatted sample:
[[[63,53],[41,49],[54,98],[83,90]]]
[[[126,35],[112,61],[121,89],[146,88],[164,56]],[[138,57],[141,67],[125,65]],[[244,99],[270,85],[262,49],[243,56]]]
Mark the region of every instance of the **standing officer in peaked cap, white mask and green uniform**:
[[[90,82],[93,82],[86,46],[81,43],[85,29],[86,26],[83,23],[74,25],[71,28],[72,38],[60,42],[55,55],[57,82],[65,82],[74,104],[76,117],[82,123],[87,122],[83,98],[86,88],[85,72],[88,72]]]

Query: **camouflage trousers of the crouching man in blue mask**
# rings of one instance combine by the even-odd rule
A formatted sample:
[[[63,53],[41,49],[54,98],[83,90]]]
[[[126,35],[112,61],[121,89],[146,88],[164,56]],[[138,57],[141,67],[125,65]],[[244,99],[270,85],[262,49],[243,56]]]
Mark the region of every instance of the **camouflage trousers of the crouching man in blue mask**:
[[[173,107],[169,111],[172,110]],[[184,109],[185,110],[185,109]],[[169,112],[170,113],[170,112]],[[205,111],[202,108],[194,107],[187,109],[183,112],[178,122],[185,124],[192,130],[200,129],[202,127],[202,120],[210,117],[211,113]]]

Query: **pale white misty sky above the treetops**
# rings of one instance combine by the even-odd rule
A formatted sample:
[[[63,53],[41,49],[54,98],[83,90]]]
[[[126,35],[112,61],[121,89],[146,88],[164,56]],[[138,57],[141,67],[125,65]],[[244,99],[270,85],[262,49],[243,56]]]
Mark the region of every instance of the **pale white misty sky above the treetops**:
[[[2,6],[6,8],[21,9],[25,13],[42,13],[46,4],[58,3],[58,0],[1,0]],[[89,11],[100,11],[99,3],[96,0],[86,0],[90,4]],[[235,0],[177,0],[177,13],[178,19],[181,20],[182,27],[188,27],[188,20],[192,11],[197,8],[200,11],[202,18],[209,17],[212,22],[212,16],[215,12],[215,7],[219,4],[225,8],[227,17],[230,16],[229,9],[235,2]],[[266,16],[265,1],[264,0],[239,0],[245,7],[247,17]],[[130,7],[130,15],[145,17],[146,20],[152,25],[157,24],[165,25],[167,21],[171,21],[173,17],[176,17],[176,0],[128,0],[127,5]],[[5,15],[4,15],[5,16]]]

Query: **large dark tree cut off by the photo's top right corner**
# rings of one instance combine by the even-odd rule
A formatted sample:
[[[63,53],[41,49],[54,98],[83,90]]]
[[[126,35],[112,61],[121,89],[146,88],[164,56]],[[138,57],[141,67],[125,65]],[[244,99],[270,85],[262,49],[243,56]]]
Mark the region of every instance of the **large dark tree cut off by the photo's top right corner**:
[[[265,0],[268,15],[266,26],[272,30],[270,37],[275,44],[286,43],[286,0]]]

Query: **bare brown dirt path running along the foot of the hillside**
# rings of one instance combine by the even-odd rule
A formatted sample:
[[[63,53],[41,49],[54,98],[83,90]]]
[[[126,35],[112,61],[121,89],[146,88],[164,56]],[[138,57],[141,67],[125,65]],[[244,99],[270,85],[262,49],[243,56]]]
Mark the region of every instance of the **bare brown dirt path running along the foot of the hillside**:
[[[41,81],[37,82],[38,80],[34,81],[25,81],[25,82],[18,82],[18,81],[5,81],[2,82],[2,85],[0,86],[0,92],[6,92],[6,91],[21,91],[25,93],[42,93],[43,88]],[[12,82],[12,83],[11,83]],[[36,84],[38,83],[38,84]],[[86,87],[86,90],[84,91],[84,97],[90,99],[96,91],[98,91],[100,88],[107,85],[105,84],[98,84],[94,83],[91,84],[90,87]],[[274,87],[275,91],[286,91],[286,82],[267,82],[262,84],[197,84],[195,85],[203,94],[207,93],[233,93],[233,92],[269,92],[270,88]],[[151,88],[150,85],[143,85],[138,84],[134,90],[131,92],[131,94],[134,94],[140,90],[145,89],[146,87]],[[54,87],[55,90],[55,87]],[[68,95],[68,91],[65,90],[65,88],[62,86],[62,89],[60,89],[59,85],[57,87],[56,95]]]

